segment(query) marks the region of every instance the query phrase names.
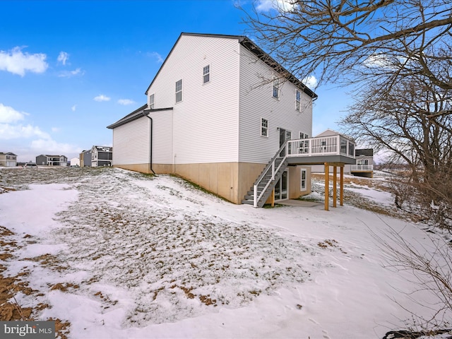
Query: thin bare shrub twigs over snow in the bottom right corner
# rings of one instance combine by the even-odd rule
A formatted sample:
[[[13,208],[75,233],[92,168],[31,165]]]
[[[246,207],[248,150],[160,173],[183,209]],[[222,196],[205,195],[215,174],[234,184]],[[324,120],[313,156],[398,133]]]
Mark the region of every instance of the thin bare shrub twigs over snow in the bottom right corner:
[[[384,220],[381,220],[384,222]],[[384,222],[386,224],[386,222]],[[394,272],[409,272],[417,289],[401,291],[415,304],[424,309],[424,315],[409,309],[406,304],[394,300],[401,308],[412,315],[410,331],[391,331],[384,338],[418,338],[422,335],[452,333],[452,249],[439,234],[425,233],[424,242],[412,242],[403,237],[403,232],[390,225],[385,231],[369,232],[382,254],[386,256],[384,266]],[[426,304],[417,299],[417,292],[431,297]],[[393,336],[391,336],[391,334]],[[400,336],[397,336],[400,334]],[[406,336],[403,336],[405,334]]]

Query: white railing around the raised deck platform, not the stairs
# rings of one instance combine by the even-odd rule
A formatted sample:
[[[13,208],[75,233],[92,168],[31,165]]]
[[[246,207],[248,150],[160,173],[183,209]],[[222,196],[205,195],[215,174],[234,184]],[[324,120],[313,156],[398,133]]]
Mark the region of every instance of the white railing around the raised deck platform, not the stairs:
[[[355,143],[340,135],[287,141],[287,157],[321,155],[344,155],[355,159]]]

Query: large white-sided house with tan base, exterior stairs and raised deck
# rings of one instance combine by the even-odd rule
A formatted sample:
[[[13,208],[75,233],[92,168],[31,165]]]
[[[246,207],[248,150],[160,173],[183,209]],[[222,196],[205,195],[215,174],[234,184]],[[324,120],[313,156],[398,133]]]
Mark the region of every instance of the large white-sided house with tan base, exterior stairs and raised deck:
[[[311,138],[317,95],[247,37],[182,33],[145,94],[107,126],[115,167],[177,174],[257,207],[272,192],[309,194],[313,162],[355,163],[352,141]]]

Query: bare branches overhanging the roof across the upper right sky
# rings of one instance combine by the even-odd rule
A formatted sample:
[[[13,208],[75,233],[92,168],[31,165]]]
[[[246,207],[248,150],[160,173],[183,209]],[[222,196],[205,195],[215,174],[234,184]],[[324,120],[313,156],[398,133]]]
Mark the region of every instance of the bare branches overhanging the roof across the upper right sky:
[[[250,33],[299,78],[394,82],[422,73],[452,89],[452,0],[287,0],[268,12],[258,4],[245,19]]]

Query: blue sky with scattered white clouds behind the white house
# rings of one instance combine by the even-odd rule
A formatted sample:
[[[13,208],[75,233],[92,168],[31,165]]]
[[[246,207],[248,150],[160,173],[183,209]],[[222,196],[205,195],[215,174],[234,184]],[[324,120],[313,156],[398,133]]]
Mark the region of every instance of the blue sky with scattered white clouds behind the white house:
[[[112,145],[106,126],[145,104],[181,32],[244,35],[237,1],[0,1],[0,152],[34,162]],[[313,134],[337,130],[349,98],[316,93]]]

